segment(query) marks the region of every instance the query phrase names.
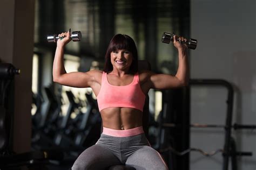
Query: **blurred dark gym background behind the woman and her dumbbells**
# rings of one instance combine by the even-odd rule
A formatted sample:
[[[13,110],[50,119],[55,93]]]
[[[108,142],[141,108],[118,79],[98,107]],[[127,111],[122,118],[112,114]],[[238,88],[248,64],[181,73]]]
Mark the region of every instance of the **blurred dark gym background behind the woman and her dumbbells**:
[[[175,74],[177,50],[161,42],[162,34],[197,39],[197,48],[188,50],[190,86],[149,92],[149,140],[169,169],[256,169],[255,0],[1,4],[0,63],[11,66],[1,66],[0,75],[5,67],[21,73],[1,77],[0,111],[8,123],[0,127],[0,165],[47,150],[56,157],[60,151],[61,159],[23,155],[21,167],[31,168],[33,159],[40,168],[69,169],[96,143],[101,120],[91,89],[52,82],[56,44],[46,37],[71,29],[81,31],[82,40],[65,48],[67,72],[102,69],[111,38],[122,33],[134,39],[139,60],[149,61],[153,72]]]

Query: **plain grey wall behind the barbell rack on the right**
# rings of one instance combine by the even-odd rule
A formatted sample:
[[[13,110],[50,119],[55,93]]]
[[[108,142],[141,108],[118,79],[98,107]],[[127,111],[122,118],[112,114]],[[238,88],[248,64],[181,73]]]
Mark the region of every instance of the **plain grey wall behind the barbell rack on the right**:
[[[255,0],[191,0],[192,79],[224,79],[235,89],[233,123],[256,124]],[[191,123],[225,123],[227,90],[191,88]],[[238,151],[253,152],[238,158],[238,169],[256,168],[255,130],[236,130]],[[211,152],[224,147],[224,129],[191,129],[191,147]],[[221,153],[204,157],[191,153],[191,169],[222,169]],[[231,169],[231,167],[230,167]]]

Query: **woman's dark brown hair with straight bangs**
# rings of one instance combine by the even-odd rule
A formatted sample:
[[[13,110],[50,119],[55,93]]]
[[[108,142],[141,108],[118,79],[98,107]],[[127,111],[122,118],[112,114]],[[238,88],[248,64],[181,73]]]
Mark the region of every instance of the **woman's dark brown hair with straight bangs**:
[[[132,73],[138,72],[138,52],[136,44],[130,36],[127,36],[125,34],[116,34],[116,36],[111,39],[109,47],[107,47],[107,51],[105,54],[105,64],[103,71],[109,73],[113,70],[110,54],[111,52],[118,49],[126,49],[127,51],[132,53],[133,60],[130,66],[130,71]]]

